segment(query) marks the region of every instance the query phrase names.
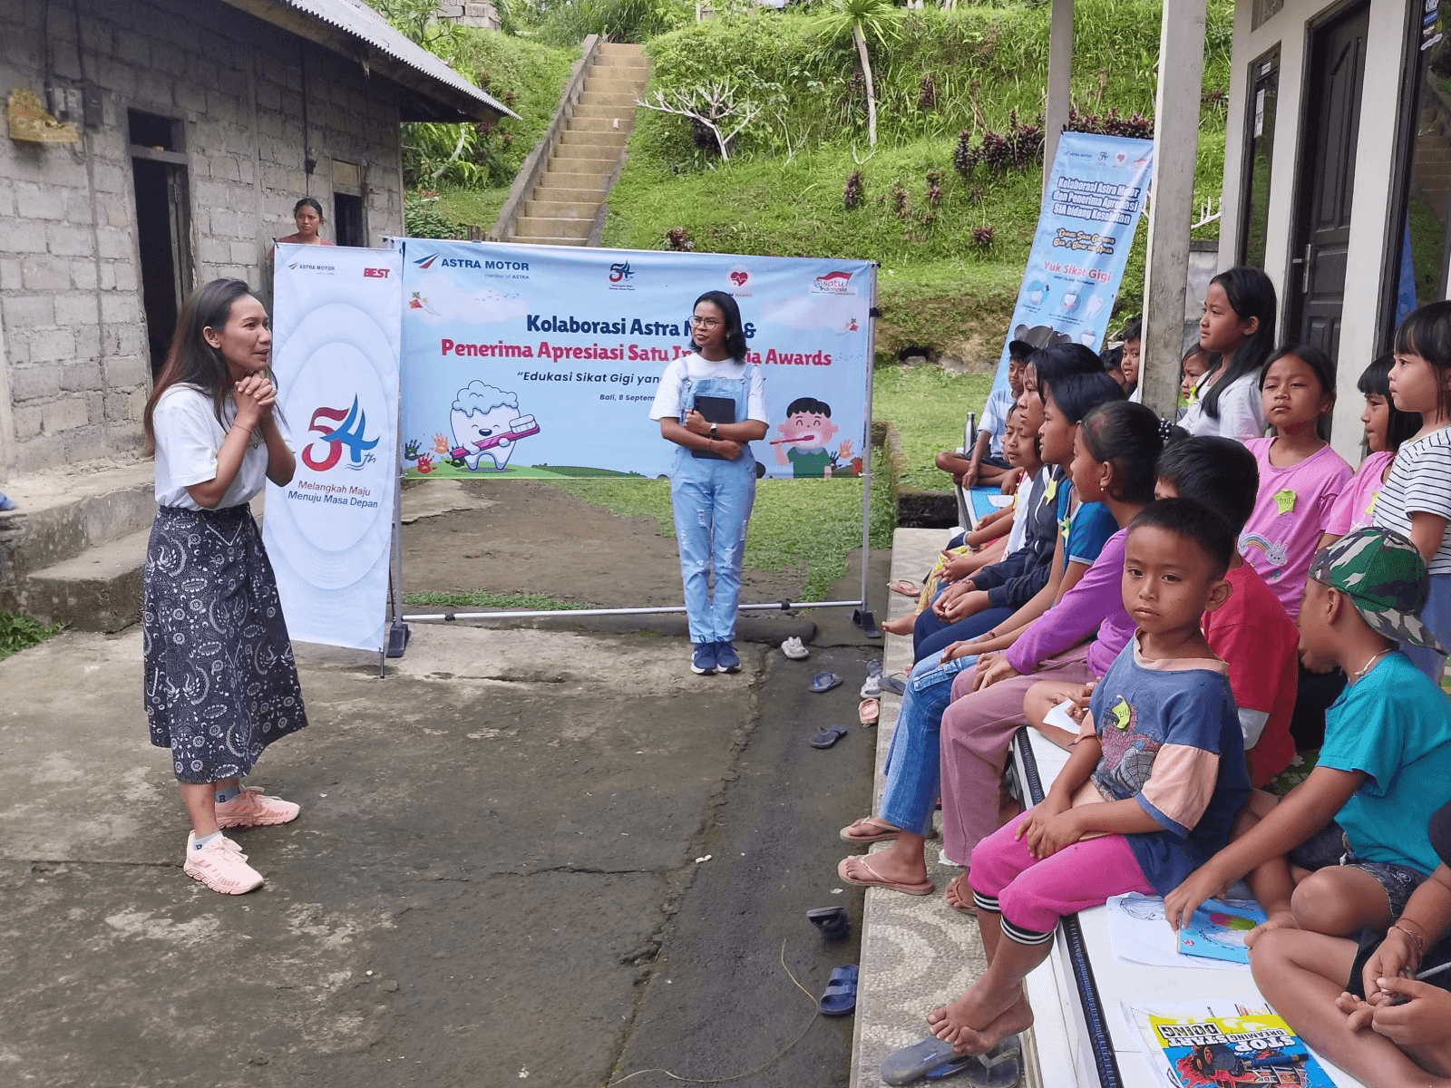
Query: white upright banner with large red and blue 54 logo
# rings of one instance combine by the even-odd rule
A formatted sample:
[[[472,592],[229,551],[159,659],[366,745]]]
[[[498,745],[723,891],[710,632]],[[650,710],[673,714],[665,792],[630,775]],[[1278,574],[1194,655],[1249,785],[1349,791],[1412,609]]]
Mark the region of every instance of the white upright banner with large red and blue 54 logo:
[[[293,638],[382,650],[398,486],[396,250],[279,245],[277,403],[297,454],[263,538]]]

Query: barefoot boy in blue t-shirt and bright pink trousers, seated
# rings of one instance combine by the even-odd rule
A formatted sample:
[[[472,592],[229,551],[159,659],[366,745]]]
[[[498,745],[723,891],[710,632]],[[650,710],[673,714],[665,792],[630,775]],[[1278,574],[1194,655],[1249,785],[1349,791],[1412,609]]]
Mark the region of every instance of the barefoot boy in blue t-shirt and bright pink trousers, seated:
[[[1162,894],[1228,841],[1249,779],[1225,663],[1199,624],[1228,599],[1233,554],[1228,522],[1188,499],[1155,502],[1129,527],[1122,596],[1138,630],[1048,796],[972,852],[988,969],[927,1015],[956,1053],[984,1053],[1032,1023],[1023,979],[1062,915]]]

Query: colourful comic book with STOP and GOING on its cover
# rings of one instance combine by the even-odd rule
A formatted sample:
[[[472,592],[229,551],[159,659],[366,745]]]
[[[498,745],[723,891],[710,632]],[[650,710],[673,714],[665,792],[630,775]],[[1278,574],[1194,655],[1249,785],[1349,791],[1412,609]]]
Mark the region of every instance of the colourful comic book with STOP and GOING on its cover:
[[[1204,1001],[1133,1008],[1149,1065],[1168,1088],[1335,1088],[1288,1026],[1259,1002]]]

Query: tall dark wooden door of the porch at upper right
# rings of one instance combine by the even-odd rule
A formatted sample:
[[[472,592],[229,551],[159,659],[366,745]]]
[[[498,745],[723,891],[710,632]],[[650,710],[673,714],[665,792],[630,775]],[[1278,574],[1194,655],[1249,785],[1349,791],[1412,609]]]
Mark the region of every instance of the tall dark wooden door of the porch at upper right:
[[[1357,4],[1310,35],[1286,334],[1331,358],[1341,347],[1368,32],[1370,4]]]

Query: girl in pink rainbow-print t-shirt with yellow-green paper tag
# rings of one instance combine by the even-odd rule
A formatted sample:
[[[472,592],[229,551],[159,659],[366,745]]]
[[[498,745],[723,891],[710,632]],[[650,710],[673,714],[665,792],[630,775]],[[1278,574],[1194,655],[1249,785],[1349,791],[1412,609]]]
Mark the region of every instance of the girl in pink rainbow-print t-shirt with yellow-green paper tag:
[[[1259,379],[1273,438],[1245,448],[1259,466],[1259,493],[1239,537],[1239,551],[1259,572],[1293,619],[1320,527],[1351,477],[1351,467],[1320,437],[1320,421],[1335,408],[1335,367],[1319,348],[1280,348]]]

